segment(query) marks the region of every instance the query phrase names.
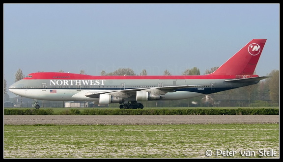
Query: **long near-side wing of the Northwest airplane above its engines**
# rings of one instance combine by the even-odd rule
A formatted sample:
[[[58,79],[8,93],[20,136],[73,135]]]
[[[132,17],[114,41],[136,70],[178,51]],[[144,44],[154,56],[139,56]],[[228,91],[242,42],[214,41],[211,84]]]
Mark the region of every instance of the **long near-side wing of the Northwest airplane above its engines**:
[[[135,95],[137,91],[150,91],[153,93],[158,93],[160,95],[165,95],[168,92],[176,92],[176,89],[181,88],[189,88],[189,87],[198,87],[201,85],[176,85],[176,86],[160,86],[160,87],[147,87],[147,88],[133,88],[133,89],[121,89],[121,90],[109,90],[109,91],[102,91],[102,92],[91,92],[88,91],[85,93],[86,97],[91,98],[99,98],[100,94],[110,94],[115,96],[123,96],[123,97],[130,97]]]

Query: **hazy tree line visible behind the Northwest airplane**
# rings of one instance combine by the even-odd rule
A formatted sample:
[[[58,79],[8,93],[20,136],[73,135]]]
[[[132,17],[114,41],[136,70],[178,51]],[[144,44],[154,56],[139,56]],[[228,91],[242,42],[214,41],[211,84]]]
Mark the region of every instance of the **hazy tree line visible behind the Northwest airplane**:
[[[214,72],[218,67],[213,67],[211,69],[207,69],[204,74],[210,74]],[[60,70],[58,72],[64,72]],[[86,74],[85,70],[81,70],[80,74]],[[102,70],[100,73],[101,76],[136,76],[137,74],[131,68],[119,68],[113,72],[107,73],[105,70]],[[142,69],[141,76],[146,76],[147,71]],[[163,75],[171,76],[172,74],[165,70]],[[182,72],[182,75],[200,75],[200,71],[197,67],[193,67],[192,69],[186,69]],[[174,101],[171,102],[175,103],[176,107],[183,107],[185,105],[190,106],[192,102],[202,103],[202,106],[215,106],[220,105],[220,101],[226,101],[229,103],[237,102],[237,101],[245,101],[248,102],[249,106],[252,106],[252,103],[255,102],[271,102],[272,106],[279,106],[279,70],[272,70],[269,74],[270,78],[265,80],[261,80],[259,83],[254,85],[249,85],[241,88],[231,89],[223,92],[217,92],[214,94],[209,94],[209,96],[201,96],[195,97],[192,99],[186,99],[182,101]],[[21,69],[15,73],[15,82],[20,81],[21,79],[25,78]],[[7,83],[4,78],[4,101],[10,101],[9,95],[7,94]],[[208,100],[208,101],[207,101]],[[160,101],[159,101],[160,102]],[[162,103],[154,103],[162,105]],[[193,104],[194,105],[194,104]],[[172,106],[172,105],[171,105]]]

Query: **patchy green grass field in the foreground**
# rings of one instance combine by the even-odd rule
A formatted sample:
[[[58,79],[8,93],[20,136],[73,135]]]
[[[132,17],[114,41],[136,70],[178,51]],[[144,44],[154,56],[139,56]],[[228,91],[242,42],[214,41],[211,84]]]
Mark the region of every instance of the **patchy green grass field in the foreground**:
[[[279,158],[279,124],[4,125],[3,148],[4,158]]]

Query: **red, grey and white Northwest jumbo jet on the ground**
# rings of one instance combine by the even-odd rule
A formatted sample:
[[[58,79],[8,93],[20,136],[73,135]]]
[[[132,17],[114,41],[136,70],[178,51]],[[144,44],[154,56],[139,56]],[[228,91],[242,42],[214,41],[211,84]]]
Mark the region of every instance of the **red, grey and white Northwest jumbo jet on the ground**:
[[[181,100],[253,85],[270,76],[255,75],[266,39],[252,39],[211,74],[193,76],[91,76],[37,72],[13,83],[19,96],[50,101],[119,103],[119,108],[143,108],[141,102]]]

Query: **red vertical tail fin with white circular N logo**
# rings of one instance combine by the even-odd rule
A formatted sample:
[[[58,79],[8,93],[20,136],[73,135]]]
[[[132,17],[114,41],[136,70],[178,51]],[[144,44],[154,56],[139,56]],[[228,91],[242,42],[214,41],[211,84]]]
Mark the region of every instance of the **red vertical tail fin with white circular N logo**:
[[[265,45],[266,39],[253,39],[234,54],[212,75],[252,75]]]

